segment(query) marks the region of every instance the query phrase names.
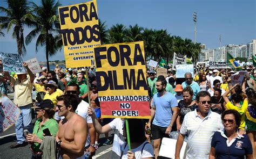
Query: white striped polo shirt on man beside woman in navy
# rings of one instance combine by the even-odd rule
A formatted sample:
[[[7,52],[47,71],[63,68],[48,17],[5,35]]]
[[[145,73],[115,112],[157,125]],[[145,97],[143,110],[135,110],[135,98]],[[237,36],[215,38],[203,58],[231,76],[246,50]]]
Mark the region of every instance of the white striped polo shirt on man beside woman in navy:
[[[208,158],[213,134],[224,128],[218,113],[210,110],[202,119],[197,111],[185,115],[180,129],[181,134],[188,135],[186,158]]]

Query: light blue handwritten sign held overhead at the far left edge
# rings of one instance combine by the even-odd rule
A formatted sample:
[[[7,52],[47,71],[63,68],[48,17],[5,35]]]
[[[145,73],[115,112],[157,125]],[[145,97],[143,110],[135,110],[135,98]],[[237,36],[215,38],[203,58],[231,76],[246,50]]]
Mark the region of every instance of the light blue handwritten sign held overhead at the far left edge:
[[[19,54],[0,52],[0,59],[3,62],[4,71],[26,73],[26,68],[22,66],[22,57]]]

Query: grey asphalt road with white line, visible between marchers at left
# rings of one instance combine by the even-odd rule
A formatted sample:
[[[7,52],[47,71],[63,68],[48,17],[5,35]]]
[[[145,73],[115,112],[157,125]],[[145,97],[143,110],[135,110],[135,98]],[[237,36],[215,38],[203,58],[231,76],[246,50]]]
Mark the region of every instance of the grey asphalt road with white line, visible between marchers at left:
[[[13,99],[13,93],[8,94],[10,99]],[[35,122],[35,120],[33,120]],[[109,133],[110,139],[113,139],[114,132]],[[105,135],[99,136],[99,143],[104,143]],[[12,158],[31,158],[31,151],[29,149],[30,145],[25,147],[19,147],[15,149],[10,149],[12,144],[16,144],[15,126],[10,127],[8,130],[0,134],[0,159],[12,159]],[[100,144],[99,149],[96,151],[93,158],[105,159],[111,158],[112,144],[103,146]]]

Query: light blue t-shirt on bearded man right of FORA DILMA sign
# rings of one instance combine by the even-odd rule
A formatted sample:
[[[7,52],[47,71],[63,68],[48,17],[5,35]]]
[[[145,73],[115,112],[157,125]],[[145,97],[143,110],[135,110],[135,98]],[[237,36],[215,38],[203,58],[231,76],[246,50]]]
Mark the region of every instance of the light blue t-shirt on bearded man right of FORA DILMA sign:
[[[177,99],[170,92],[165,92],[160,97],[160,93],[153,96],[152,106],[156,108],[153,124],[161,127],[168,127],[172,120],[172,107],[178,106]]]

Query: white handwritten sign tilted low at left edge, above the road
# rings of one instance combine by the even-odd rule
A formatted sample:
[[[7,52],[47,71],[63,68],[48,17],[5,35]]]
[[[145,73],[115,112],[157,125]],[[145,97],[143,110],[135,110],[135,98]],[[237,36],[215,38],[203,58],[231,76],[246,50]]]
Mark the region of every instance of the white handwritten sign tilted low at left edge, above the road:
[[[14,125],[20,113],[21,110],[8,97],[0,98],[0,133]]]

